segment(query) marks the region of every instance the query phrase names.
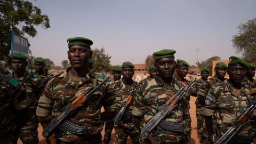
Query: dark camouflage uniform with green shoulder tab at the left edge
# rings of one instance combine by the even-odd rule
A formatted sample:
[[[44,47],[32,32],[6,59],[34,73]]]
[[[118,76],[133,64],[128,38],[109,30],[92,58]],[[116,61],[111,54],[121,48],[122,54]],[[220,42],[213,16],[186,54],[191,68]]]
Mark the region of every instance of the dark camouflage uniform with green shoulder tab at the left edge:
[[[29,107],[26,90],[15,79],[7,76],[0,84],[0,143],[17,143],[15,111]]]

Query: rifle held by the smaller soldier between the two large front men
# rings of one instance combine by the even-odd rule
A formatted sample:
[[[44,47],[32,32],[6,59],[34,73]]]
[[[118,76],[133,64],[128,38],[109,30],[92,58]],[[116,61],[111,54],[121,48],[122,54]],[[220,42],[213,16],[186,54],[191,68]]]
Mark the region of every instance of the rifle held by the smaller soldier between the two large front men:
[[[135,87],[135,89],[133,89],[132,92],[130,93],[130,95],[125,99],[121,110],[119,111],[119,113],[117,114],[117,116],[115,118],[115,123],[117,125],[118,124],[121,125],[123,127],[123,129],[125,129],[125,125],[123,124],[125,112],[127,109],[129,109],[131,102],[133,100],[134,94],[138,90],[139,86],[140,86],[140,83],[138,83],[138,85]]]

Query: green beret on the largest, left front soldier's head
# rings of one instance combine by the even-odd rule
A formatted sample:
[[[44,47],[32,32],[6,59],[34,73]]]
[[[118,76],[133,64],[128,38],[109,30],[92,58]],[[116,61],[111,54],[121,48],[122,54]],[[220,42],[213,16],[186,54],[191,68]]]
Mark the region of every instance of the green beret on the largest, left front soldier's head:
[[[81,46],[88,47],[90,49],[91,49],[90,46],[93,44],[91,39],[84,38],[84,37],[68,38],[67,42],[68,42],[68,47],[72,45],[81,45]]]

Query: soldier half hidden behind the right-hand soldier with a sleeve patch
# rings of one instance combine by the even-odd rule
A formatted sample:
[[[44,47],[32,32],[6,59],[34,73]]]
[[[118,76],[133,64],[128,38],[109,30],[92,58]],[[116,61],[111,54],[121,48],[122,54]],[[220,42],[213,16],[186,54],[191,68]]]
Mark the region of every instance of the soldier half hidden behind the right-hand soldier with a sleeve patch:
[[[207,81],[205,81],[202,84],[201,89],[199,89],[197,91],[197,100],[200,105],[204,106],[205,97],[206,97],[207,93],[209,92],[209,90],[211,89],[213,84],[222,83],[227,79],[227,78],[225,78],[225,75],[227,73],[227,68],[228,68],[228,66],[223,62],[216,63],[215,68],[214,68],[215,75],[213,77],[207,79]],[[213,123],[215,123],[215,121],[213,121]],[[202,136],[199,135],[199,137],[202,137]],[[204,127],[203,138],[201,138],[204,140],[204,143],[205,143],[205,140],[207,140],[207,137],[208,137],[208,132],[206,130],[206,127]]]

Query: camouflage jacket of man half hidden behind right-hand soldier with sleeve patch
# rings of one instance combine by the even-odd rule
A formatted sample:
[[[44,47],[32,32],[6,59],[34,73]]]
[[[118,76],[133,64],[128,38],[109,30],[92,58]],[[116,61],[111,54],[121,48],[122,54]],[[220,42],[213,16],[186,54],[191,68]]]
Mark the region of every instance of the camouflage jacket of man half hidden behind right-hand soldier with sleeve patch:
[[[227,78],[225,78],[226,80]],[[211,89],[212,85],[215,83],[222,83],[222,81],[217,77],[217,75],[214,75],[213,77],[207,79],[207,81],[205,81],[202,84],[201,89],[199,89],[197,91],[197,95],[201,95],[202,97],[206,97],[207,93],[209,92],[209,90]]]

